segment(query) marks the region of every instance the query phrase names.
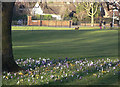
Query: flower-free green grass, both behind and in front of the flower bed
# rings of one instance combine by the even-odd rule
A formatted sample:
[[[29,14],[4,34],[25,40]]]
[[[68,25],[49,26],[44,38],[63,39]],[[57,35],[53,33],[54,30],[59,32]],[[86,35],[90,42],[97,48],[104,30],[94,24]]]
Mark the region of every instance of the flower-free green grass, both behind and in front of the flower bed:
[[[52,27],[12,27],[12,41],[14,58],[87,58],[95,61],[98,59],[118,58],[118,30],[99,28],[52,28]],[[45,30],[44,30],[45,29]],[[22,30],[22,31],[21,31]],[[57,30],[57,31],[56,31]],[[95,71],[98,74],[99,72]],[[79,73],[78,73],[79,74]],[[81,73],[80,73],[81,74]],[[51,81],[49,84],[61,85],[118,85],[118,76],[113,75],[113,71],[104,74],[99,79],[93,73],[83,78],[72,79],[61,82]],[[28,78],[26,78],[28,79]],[[61,78],[62,79],[62,78]],[[16,84],[17,79],[4,80],[4,84]],[[39,80],[37,80],[39,84]],[[23,83],[27,84],[27,83]]]

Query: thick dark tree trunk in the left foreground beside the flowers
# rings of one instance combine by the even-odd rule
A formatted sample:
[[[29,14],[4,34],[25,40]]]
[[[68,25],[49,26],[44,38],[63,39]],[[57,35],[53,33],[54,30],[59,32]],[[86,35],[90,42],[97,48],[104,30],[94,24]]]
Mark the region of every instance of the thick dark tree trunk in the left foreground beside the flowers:
[[[14,2],[2,3],[2,70],[18,71],[21,69],[13,58],[11,23]]]

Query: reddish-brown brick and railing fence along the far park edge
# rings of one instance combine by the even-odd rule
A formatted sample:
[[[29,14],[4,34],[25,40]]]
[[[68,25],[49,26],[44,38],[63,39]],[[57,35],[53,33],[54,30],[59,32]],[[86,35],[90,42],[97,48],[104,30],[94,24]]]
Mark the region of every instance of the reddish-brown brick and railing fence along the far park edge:
[[[50,27],[72,27],[72,21],[71,20],[32,20],[31,16],[28,16],[27,20],[18,20],[18,21],[12,21],[12,25],[22,25],[22,26],[50,26]],[[77,26],[91,26],[91,23],[87,22],[80,22]],[[94,23],[93,26],[99,26],[99,23]],[[106,26],[110,26],[109,23],[106,24]],[[117,24],[114,24],[115,27],[117,27]]]

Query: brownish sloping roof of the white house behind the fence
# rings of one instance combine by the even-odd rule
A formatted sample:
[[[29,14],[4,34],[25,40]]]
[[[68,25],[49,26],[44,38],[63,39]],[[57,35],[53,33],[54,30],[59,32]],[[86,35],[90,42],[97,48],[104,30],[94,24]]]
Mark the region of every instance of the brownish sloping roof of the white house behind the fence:
[[[65,13],[68,8],[69,11],[75,11],[76,7],[73,4],[64,4],[64,3],[40,3],[40,6],[45,14],[57,14],[61,15]]]

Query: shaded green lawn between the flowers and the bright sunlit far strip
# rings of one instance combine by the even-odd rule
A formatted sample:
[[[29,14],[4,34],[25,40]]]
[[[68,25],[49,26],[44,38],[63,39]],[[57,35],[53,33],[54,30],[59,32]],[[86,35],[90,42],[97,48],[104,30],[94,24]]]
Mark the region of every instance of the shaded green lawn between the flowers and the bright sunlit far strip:
[[[12,31],[14,57],[117,57],[117,30]]]

